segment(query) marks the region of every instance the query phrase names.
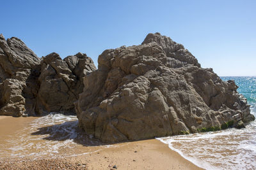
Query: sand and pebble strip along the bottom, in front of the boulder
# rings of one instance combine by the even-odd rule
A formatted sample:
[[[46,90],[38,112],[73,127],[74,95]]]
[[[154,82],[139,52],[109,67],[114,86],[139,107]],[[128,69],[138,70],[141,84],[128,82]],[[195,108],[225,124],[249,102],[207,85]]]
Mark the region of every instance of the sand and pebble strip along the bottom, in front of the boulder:
[[[118,145],[118,144],[117,144]],[[85,146],[86,147],[86,146]],[[93,146],[99,147],[99,146]],[[202,169],[157,139],[56,159],[0,159],[0,169]],[[116,167],[116,168],[115,168]]]

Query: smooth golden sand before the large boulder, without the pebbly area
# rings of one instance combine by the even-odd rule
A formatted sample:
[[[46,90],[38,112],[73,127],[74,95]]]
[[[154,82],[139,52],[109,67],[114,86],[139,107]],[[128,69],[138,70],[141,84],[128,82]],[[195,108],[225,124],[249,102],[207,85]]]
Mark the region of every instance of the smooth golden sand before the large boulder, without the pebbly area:
[[[71,160],[88,169],[200,169],[157,139],[124,143]]]

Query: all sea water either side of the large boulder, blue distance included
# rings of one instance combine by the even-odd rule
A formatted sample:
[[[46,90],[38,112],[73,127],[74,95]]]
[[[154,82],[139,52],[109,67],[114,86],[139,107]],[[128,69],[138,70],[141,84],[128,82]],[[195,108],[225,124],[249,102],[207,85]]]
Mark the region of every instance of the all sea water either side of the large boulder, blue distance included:
[[[236,81],[237,91],[247,98],[251,113],[256,117],[256,77],[226,76],[221,79]],[[75,115],[50,113],[40,118],[5,118],[4,123],[13,124],[17,129],[0,129],[0,159],[72,157],[122,145],[105,145],[87,136],[77,127]],[[256,121],[244,129],[156,139],[204,169],[256,169]]]

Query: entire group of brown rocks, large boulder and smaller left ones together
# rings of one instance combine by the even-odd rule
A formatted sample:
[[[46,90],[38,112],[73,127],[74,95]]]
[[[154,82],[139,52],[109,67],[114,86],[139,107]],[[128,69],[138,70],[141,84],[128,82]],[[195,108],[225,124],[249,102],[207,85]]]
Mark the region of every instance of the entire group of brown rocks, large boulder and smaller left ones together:
[[[104,142],[244,127],[254,120],[234,81],[222,81],[179,43],[148,34],[138,46],[41,59],[0,34],[0,115],[74,112]]]

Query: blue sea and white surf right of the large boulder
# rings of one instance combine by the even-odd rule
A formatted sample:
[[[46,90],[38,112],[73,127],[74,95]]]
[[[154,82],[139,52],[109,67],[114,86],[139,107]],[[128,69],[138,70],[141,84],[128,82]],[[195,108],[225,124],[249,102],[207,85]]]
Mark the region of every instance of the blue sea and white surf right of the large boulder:
[[[235,80],[237,91],[246,97],[256,116],[256,77],[221,77]],[[182,136],[157,138],[199,167],[205,169],[256,169],[256,122],[245,129],[227,129]]]

